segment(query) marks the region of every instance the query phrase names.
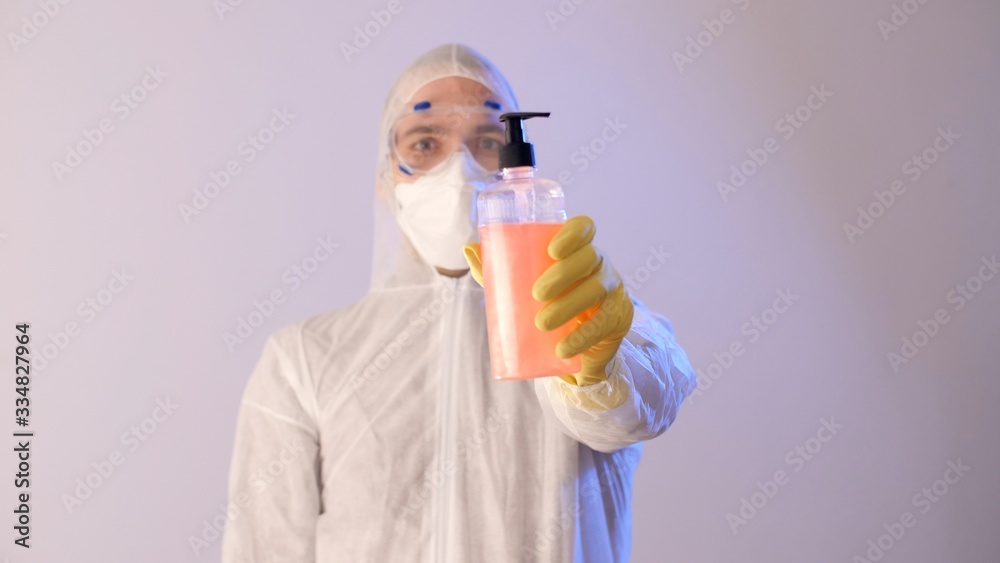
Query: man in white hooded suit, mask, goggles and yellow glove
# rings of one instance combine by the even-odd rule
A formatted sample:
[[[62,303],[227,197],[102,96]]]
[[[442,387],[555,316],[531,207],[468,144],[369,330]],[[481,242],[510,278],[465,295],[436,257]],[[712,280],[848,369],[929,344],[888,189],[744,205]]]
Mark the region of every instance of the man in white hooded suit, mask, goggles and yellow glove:
[[[504,77],[462,45],[390,90],[371,289],[265,343],[239,410],[224,563],[629,560],[642,442],[695,377],[580,216],[533,296],[546,330],[597,311],[557,347],[582,370],[492,379],[473,202],[510,111]]]

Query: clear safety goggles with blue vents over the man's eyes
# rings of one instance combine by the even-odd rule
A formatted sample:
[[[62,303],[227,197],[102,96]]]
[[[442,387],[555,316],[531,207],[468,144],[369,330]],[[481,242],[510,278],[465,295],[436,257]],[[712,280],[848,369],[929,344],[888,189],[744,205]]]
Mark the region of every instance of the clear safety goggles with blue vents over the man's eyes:
[[[504,124],[500,105],[431,107],[420,102],[396,120],[390,132],[399,169],[408,175],[433,169],[464,145],[489,172],[500,169]]]

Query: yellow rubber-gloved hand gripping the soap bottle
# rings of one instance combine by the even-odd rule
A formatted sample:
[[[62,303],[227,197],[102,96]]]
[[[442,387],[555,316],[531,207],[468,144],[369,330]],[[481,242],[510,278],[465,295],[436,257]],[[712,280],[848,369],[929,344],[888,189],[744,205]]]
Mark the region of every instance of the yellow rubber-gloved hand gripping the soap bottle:
[[[538,301],[548,302],[535,317],[535,326],[552,330],[584,315],[576,330],[556,345],[556,355],[569,358],[582,354],[579,373],[561,376],[575,385],[591,385],[607,379],[607,366],[622,339],[632,327],[632,300],[621,276],[608,258],[594,247],[594,221],[573,217],[552,237],[548,253],[556,262],[532,287]],[[472,277],[483,283],[479,243],[463,247]]]

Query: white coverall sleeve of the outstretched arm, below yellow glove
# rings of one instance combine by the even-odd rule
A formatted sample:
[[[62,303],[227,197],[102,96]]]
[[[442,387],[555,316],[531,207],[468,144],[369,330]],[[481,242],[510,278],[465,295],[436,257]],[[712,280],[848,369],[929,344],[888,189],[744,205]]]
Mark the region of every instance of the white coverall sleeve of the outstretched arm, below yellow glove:
[[[610,453],[667,430],[696,379],[663,315],[632,298],[632,328],[606,381],[577,387],[559,377],[535,381],[545,416],[591,449]]]

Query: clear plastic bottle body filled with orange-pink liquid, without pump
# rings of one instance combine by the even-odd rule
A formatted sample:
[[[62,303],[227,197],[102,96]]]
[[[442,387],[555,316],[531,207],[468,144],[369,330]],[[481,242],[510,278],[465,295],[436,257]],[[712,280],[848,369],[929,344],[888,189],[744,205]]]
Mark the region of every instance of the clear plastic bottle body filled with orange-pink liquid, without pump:
[[[566,222],[565,198],[556,182],[535,178],[534,168],[503,170],[503,179],[477,198],[483,290],[495,379],[530,379],[580,371],[580,357],[559,358],[556,344],[578,326],[535,326],[545,303],[531,288],[555,261],[548,245]]]

